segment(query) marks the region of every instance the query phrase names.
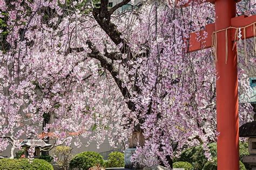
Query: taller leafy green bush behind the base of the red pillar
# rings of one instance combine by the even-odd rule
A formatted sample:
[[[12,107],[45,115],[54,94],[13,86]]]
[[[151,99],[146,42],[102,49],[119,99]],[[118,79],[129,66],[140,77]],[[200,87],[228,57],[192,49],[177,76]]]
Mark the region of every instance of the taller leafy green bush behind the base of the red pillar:
[[[217,157],[217,143],[208,144],[212,158]],[[207,162],[207,158],[204,155],[205,151],[203,145],[189,147],[186,150],[182,151],[179,158],[174,159],[173,161],[186,161],[192,164],[194,169],[203,169],[204,165]],[[245,142],[239,143],[239,158],[242,159],[242,156],[248,155],[248,144]]]

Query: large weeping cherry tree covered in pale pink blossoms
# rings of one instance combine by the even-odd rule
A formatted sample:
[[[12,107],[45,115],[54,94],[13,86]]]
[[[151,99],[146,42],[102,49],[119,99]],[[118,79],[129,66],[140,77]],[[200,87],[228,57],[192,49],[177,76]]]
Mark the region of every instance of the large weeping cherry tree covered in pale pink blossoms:
[[[114,14],[129,2],[110,8],[108,1],[97,7],[0,0],[7,33],[0,55],[0,150],[10,134],[18,140],[31,129],[40,133],[35,124],[56,145],[77,147],[80,138],[98,146],[107,138],[116,146],[142,132],[146,141],[133,161],[147,166],[172,166],[184,146],[207,149],[216,140],[214,55],[211,49],[186,53],[190,33],[214,22],[213,5],[176,8],[173,1],[149,1]],[[253,4],[242,1],[238,14],[252,15]],[[255,67],[253,45],[247,45],[251,62],[239,59],[240,93],[249,88],[246,70]],[[250,121],[250,111],[249,104],[240,105],[241,124]]]

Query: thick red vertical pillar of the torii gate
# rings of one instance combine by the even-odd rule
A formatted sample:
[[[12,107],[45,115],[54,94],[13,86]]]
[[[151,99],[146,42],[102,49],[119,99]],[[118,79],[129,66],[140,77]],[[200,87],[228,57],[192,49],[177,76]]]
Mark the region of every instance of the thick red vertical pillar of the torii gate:
[[[233,0],[215,1],[215,31],[231,26],[236,15]],[[239,169],[238,72],[237,52],[232,50],[231,30],[227,31],[228,56],[226,63],[226,31],[217,33],[216,107],[218,169]]]

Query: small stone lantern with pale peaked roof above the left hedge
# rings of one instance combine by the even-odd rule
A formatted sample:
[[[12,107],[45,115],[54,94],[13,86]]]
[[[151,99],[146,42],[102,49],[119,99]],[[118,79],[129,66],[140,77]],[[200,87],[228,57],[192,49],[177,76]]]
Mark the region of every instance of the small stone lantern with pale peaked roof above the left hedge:
[[[29,155],[28,150],[31,146],[35,147],[34,158],[39,158],[41,149],[51,147],[51,144],[46,144],[44,140],[39,139],[36,136],[35,132],[30,132],[30,133],[31,133],[31,136],[28,139],[23,140],[20,145],[22,147],[25,147],[26,158],[28,158],[28,155]]]

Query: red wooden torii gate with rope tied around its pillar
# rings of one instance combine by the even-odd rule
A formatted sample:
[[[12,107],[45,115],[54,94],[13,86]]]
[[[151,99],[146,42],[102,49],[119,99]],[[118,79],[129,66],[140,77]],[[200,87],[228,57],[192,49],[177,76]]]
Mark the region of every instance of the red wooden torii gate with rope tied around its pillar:
[[[179,1],[176,0],[176,4]],[[185,6],[193,1],[203,3],[200,0],[189,0]],[[204,31],[208,36],[204,43],[197,40],[198,34],[202,35],[203,31],[191,33],[189,40],[189,52],[212,47],[212,42],[215,42],[218,76],[217,131],[220,133],[217,139],[217,158],[220,170],[239,169],[238,65],[235,41],[238,37],[247,39],[255,36],[256,15],[235,17],[236,3],[239,1],[206,0],[215,5],[215,23],[206,25]],[[238,28],[241,28],[240,36],[237,36]]]

